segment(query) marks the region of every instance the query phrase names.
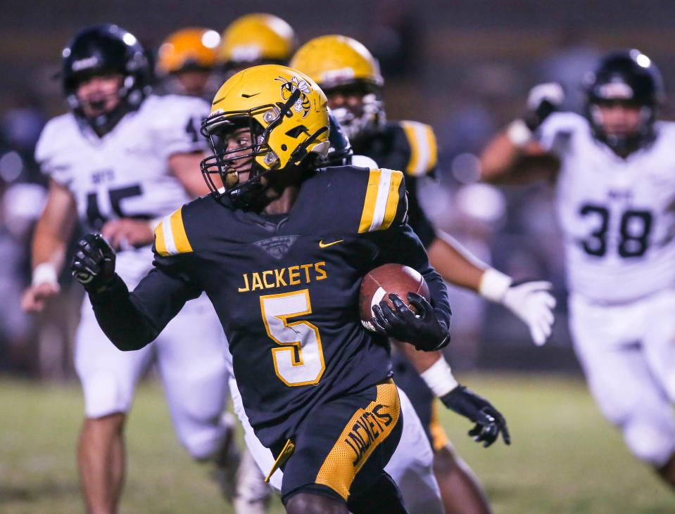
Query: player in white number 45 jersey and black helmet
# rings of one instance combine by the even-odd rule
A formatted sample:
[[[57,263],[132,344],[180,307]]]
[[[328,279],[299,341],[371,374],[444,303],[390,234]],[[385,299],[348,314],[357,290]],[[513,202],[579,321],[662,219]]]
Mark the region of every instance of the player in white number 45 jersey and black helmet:
[[[32,245],[27,311],[42,310],[58,293],[58,272],[78,217],[119,250],[118,272],[134,284],[152,266],[152,220],[206,191],[197,170],[206,147],[198,128],[208,104],[149,94],[149,65],[132,34],[116,25],[82,30],[63,50],[62,74],[72,112],[47,123],[37,143],[36,158],[50,184]],[[194,458],[221,457],[227,373],[218,330],[203,297],[153,345],[120,352],[84,301],[75,368],[84,392],[77,463],[87,512],[118,510],[126,414],[135,384],[153,359],[180,442]],[[187,345],[192,338],[195,344]]]

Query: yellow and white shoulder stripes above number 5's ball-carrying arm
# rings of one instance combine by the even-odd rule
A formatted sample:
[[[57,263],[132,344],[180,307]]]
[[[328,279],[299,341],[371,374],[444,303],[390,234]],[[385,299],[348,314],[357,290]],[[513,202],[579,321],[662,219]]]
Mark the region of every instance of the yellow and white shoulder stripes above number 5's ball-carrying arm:
[[[386,168],[370,170],[359,233],[389,229],[398,210],[401,181],[401,172]]]

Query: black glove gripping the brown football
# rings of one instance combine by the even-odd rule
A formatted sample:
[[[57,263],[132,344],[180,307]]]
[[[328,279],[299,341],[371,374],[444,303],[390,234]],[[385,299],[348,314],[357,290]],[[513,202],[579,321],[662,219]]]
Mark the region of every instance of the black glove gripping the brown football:
[[[441,325],[434,307],[426,298],[417,293],[408,293],[408,302],[417,309],[417,315],[398,295],[390,294],[389,300],[393,309],[386,300],[372,307],[372,324],[379,332],[399,341],[410,342],[424,352],[433,352],[448,345],[448,328]]]

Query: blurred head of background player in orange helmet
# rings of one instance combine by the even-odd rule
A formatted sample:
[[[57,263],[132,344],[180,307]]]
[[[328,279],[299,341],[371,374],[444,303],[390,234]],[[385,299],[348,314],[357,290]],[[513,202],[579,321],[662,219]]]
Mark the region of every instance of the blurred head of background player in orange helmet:
[[[203,27],[188,27],[170,34],[157,52],[161,91],[210,101],[220,86],[215,73],[219,46],[220,34]]]

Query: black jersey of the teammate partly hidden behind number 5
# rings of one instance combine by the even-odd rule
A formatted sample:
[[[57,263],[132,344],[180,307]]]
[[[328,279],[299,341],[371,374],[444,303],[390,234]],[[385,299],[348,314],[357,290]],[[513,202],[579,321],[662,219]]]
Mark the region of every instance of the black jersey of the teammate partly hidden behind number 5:
[[[436,233],[417,200],[417,181],[436,171],[438,150],[434,129],[419,122],[386,122],[381,131],[353,141],[353,150],[355,154],[370,157],[378,166],[405,172],[408,223],[428,247]]]

